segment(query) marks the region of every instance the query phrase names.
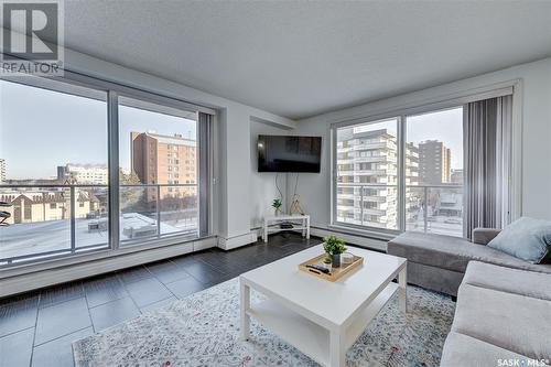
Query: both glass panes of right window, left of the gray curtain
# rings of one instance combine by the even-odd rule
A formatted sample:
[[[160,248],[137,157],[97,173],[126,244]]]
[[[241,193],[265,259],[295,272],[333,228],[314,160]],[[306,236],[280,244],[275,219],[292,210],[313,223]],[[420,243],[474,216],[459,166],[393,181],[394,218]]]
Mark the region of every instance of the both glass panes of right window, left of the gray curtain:
[[[463,108],[334,129],[333,223],[462,236]]]

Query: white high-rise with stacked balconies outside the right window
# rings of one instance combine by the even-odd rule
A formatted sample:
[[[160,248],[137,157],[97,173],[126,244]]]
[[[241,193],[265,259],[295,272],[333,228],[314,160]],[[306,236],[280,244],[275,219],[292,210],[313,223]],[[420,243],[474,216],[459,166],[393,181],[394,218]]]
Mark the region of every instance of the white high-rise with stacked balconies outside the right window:
[[[387,129],[339,129],[337,138],[337,219],[361,226],[397,229],[398,145]],[[407,144],[406,183],[418,184],[419,153]],[[358,184],[368,184],[365,186]],[[346,185],[354,184],[354,185]],[[379,184],[379,185],[377,185]]]

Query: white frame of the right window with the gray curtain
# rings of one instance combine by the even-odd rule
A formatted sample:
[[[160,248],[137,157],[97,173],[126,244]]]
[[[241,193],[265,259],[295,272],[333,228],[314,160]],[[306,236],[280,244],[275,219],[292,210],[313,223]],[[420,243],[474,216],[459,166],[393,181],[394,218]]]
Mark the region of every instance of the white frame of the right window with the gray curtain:
[[[506,95],[512,95],[514,98],[514,110],[512,110],[512,145],[514,151],[511,158],[511,176],[509,180],[511,182],[519,183],[518,185],[511,185],[512,192],[510,193],[510,218],[511,220],[520,217],[521,213],[521,187],[520,187],[520,149],[521,149],[521,136],[518,133],[521,131],[521,109],[520,109],[520,98],[521,98],[521,84],[519,79],[499,83],[496,85],[490,85],[486,87],[480,87],[478,89],[472,89],[464,93],[457,93],[455,95],[450,95],[446,97],[434,97],[426,99],[424,101],[417,101],[412,104],[401,104],[397,106],[390,106],[389,108],[374,109],[370,112],[364,112],[361,115],[344,118],[336,120],[329,125],[329,172],[331,172],[331,184],[329,184],[329,228],[338,229],[344,233],[357,234],[360,236],[367,236],[375,239],[389,240],[396,237],[398,234],[406,230],[406,143],[407,143],[407,117],[417,116],[430,112],[437,112],[446,109],[456,108],[465,104],[488,99],[494,97],[500,97]],[[381,104],[383,105],[383,104]],[[337,220],[337,130],[345,127],[353,127],[357,125],[369,125],[376,123],[381,120],[393,119],[397,121],[397,144],[398,144],[398,218],[397,218],[397,230],[359,226],[354,224],[342,223]]]

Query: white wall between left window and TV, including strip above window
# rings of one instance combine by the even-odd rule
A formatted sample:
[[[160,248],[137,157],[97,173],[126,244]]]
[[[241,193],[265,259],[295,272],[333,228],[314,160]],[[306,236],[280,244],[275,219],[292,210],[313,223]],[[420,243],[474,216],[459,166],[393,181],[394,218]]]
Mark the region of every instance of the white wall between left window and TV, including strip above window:
[[[65,66],[73,72],[217,109],[216,231],[224,244],[240,237],[245,240],[251,238],[250,121],[263,121],[284,128],[294,128],[294,121],[71,50],[65,50]]]

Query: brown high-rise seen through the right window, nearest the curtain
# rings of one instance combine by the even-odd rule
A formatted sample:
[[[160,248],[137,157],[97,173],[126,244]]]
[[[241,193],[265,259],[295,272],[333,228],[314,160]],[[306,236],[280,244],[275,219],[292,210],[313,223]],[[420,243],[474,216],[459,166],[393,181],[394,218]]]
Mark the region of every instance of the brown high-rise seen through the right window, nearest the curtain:
[[[419,143],[419,181],[421,184],[451,182],[452,152],[437,140]]]

